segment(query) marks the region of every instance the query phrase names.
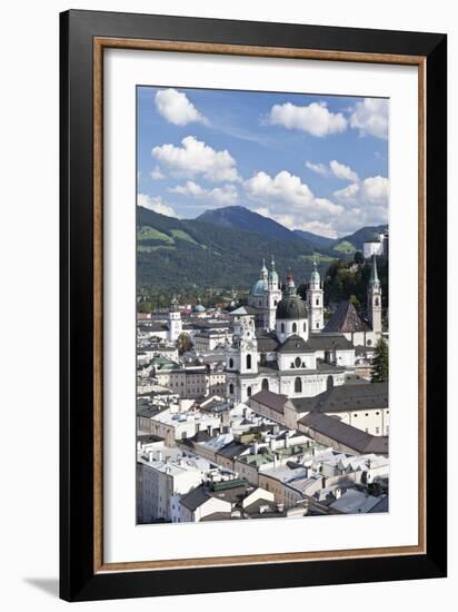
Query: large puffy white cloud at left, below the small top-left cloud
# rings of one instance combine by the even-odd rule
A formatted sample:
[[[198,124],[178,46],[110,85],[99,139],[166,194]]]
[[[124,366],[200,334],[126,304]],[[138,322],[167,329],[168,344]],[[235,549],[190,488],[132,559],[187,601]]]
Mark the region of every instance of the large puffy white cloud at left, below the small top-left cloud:
[[[216,151],[193,136],[181,140],[182,147],[162,145],[151,151],[161,165],[176,177],[193,178],[201,175],[212,181],[240,180],[236,160],[228,150]]]

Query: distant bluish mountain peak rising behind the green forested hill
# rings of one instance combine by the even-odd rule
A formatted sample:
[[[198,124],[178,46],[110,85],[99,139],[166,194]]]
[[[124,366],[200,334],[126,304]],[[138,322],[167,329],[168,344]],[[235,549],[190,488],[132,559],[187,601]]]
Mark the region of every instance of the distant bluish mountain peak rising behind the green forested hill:
[[[243,231],[256,231],[270,238],[290,240],[296,238],[295,233],[278,224],[273,219],[258,215],[243,206],[227,206],[216,210],[206,210],[197,217],[197,221],[232,227]]]

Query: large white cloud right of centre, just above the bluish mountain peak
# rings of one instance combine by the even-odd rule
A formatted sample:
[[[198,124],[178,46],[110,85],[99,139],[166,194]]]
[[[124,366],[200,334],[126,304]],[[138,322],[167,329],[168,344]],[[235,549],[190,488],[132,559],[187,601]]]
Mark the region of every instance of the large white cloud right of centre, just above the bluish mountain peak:
[[[273,215],[285,213],[285,205],[289,207],[288,215],[292,215],[297,224],[307,218],[320,220],[330,215],[339,215],[344,208],[326,198],[317,198],[308,185],[300,178],[282,170],[276,177],[266,172],[258,172],[243,184],[245,191],[253,200],[269,203],[269,210]],[[295,227],[298,227],[296,225]]]

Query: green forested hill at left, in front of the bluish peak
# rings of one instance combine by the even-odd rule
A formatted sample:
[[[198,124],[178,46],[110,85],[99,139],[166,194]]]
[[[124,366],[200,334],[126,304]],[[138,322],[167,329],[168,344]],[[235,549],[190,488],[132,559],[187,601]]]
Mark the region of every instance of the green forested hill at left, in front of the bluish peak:
[[[289,267],[297,285],[309,277],[316,249],[292,231],[292,237],[285,240],[206,223],[201,217],[176,219],[137,207],[139,286],[172,290],[193,286],[248,289],[259,278],[262,258],[269,265],[271,256],[280,277]],[[321,272],[331,260],[329,256],[320,257]]]

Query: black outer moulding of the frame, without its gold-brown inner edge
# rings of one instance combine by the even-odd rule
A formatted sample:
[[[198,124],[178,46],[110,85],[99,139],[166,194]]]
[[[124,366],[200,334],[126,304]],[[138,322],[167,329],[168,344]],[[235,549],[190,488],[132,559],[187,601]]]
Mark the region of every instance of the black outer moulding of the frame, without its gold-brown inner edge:
[[[427,554],[93,571],[92,39],[424,56],[427,60]],[[441,578],[447,571],[447,37],[71,10],[60,14],[60,596],[67,601]],[[436,361],[435,356],[439,358]]]

